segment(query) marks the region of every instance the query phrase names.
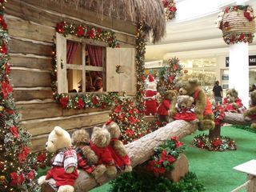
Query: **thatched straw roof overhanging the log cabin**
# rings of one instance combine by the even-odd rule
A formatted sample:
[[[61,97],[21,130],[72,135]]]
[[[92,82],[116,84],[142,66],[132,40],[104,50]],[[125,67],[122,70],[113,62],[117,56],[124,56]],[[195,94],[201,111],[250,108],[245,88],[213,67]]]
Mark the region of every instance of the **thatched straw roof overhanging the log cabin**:
[[[166,34],[166,19],[162,0],[52,0],[65,2],[99,14],[131,22],[145,21],[153,32],[153,42]]]

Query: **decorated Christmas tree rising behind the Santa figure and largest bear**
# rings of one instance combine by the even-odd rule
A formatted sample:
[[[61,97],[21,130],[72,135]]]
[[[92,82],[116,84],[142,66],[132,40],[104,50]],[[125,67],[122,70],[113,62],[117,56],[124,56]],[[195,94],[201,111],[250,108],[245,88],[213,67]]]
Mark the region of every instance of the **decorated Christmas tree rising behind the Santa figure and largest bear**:
[[[171,58],[168,66],[159,70],[158,92],[164,94],[166,90],[174,90],[178,77],[182,75],[182,66],[178,58]]]

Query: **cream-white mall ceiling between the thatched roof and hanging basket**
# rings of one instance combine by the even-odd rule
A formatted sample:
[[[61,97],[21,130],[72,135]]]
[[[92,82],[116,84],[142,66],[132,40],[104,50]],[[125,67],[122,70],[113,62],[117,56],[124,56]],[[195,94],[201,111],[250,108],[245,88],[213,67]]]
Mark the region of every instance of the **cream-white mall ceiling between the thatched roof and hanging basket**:
[[[185,2],[185,0],[179,2]],[[250,0],[250,5],[256,11],[256,0]],[[149,44],[146,46],[146,61],[168,60],[174,56],[182,59],[213,58],[218,55],[228,55],[229,46],[222,40],[222,31],[214,26],[218,12],[219,10],[214,7],[210,14],[203,15],[201,18],[186,20],[185,22],[178,22],[177,20],[168,22],[166,37],[162,42],[157,45]],[[250,54],[256,54],[256,40],[250,44],[249,50]]]

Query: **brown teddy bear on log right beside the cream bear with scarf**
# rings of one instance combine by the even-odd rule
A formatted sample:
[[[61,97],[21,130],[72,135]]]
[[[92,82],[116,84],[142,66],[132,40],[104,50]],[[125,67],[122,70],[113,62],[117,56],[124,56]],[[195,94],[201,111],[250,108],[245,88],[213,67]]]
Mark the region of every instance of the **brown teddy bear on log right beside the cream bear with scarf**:
[[[75,130],[71,137],[72,143],[75,146],[78,157],[78,169],[86,171],[87,174],[92,174],[98,162],[98,157],[93,150],[90,149],[90,136],[86,130]]]

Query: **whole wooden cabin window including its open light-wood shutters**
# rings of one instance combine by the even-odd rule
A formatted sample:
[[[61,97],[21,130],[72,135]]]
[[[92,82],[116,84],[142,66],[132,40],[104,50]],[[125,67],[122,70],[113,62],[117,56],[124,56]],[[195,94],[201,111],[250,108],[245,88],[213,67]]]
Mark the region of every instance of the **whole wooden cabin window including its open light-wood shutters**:
[[[56,34],[58,94],[126,91],[135,94],[135,49]],[[121,66],[116,70],[116,66]]]

